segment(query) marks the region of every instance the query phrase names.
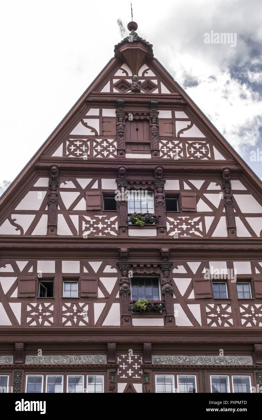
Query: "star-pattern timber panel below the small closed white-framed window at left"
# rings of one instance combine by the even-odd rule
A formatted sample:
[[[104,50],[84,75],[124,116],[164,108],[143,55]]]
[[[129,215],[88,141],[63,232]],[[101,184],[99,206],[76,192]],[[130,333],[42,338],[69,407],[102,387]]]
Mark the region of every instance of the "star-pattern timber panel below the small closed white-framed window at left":
[[[88,304],[64,303],[62,323],[63,325],[88,325]]]

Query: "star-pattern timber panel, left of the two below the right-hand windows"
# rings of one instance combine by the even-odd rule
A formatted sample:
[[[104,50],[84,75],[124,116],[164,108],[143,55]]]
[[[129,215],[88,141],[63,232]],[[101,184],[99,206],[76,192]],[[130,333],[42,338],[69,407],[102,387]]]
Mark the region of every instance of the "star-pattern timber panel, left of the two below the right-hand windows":
[[[209,327],[231,327],[233,325],[230,304],[207,304],[206,318]]]

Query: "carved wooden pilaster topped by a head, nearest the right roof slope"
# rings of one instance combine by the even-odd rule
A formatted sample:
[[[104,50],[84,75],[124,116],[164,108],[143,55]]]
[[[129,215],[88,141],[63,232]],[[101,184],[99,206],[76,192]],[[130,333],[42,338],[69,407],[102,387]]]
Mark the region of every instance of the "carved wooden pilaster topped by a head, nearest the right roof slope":
[[[222,169],[224,205],[227,219],[228,236],[236,236],[236,220],[234,215],[233,194],[231,191],[230,168]]]

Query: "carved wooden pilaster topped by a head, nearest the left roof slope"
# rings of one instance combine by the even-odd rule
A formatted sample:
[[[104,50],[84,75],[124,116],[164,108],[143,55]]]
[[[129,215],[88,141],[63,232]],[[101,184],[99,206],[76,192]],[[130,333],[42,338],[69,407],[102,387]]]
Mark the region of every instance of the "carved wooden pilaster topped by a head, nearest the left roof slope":
[[[48,234],[57,233],[57,207],[58,207],[58,178],[59,168],[57,165],[50,166],[50,178],[48,183]]]

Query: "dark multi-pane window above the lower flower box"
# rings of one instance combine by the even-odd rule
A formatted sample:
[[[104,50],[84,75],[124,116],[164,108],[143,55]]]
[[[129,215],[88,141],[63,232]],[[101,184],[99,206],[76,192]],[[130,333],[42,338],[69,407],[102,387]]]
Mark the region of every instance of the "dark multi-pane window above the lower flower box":
[[[159,300],[158,277],[133,277],[131,279],[132,300]]]

